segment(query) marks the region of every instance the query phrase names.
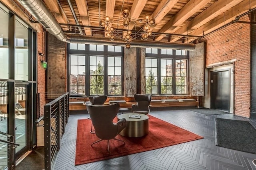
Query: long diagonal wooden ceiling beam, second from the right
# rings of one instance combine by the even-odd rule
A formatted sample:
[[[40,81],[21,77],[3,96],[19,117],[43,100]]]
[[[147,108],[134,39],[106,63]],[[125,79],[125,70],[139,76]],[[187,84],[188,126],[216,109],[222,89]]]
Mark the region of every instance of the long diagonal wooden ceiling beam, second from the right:
[[[236,6],[238,3],[242,2],[243,0],[222,0],[217,1],[209,8],[204,10],[201,14],[193,18],[190,22],[188,22],[186,25],[180,27],[177,31],[175,31],[175,34],[187,34],[192,32],[194,29],[197,29],[207,23],[208,21],[214,19],[218,15],[222,14],[226,10],[232,8],[233,6]],[[248,4],[248,2],[246,1]],[[175,42],[180,37],[172,38],[171,42]]]

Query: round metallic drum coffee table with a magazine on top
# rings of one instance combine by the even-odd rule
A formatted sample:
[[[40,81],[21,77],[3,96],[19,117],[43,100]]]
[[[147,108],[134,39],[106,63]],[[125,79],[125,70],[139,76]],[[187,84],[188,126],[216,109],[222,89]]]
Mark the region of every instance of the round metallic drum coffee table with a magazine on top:
[[[140,118],[130,118],[129,115],[140,115]],[[148,134],[148,116],[140,113],[125,113],[118,115],[118,121],[126,119],[126,127],[119,133],[125,137],[142,137]]]

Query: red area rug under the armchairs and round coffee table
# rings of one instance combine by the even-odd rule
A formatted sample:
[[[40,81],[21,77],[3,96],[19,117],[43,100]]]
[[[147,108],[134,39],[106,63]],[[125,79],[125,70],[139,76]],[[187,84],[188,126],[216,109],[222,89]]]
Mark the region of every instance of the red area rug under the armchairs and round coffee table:
[[[118,135],[117,138],[123,140],[125,144],[110,140],[110,153],[108,153],[107,141],[101,141],[91,147],[91,144],[98,140],[95,134],[90,133],[91,120],[78,120],[75,165],[116,158],[203,138],[156,117],[148,116],[150,117],[148,135],[139,138]],[[116,119],[114,122],[116,122]]]

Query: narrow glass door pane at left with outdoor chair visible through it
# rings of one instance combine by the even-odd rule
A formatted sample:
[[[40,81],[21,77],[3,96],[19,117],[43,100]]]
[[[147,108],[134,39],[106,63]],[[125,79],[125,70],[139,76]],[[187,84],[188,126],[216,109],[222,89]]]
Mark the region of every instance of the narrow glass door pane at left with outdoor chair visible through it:
[[[16,148],[17,156],[27,151],[26,90],[26,85],[15,86],[15,141],[20,144]]]

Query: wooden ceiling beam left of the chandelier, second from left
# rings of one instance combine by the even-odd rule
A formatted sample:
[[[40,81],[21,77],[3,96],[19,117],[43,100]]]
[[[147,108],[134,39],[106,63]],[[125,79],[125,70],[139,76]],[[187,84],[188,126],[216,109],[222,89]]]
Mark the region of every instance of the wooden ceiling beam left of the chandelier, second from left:
[[[82,24],[90,26],[90,18],[86,0],[76,0],[76,6],[80,14]],[[88,27],[84,27],[84,31],[86,35],[92,35],[92,29]]]

